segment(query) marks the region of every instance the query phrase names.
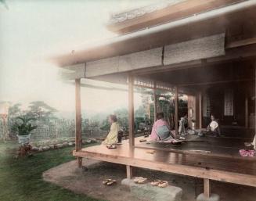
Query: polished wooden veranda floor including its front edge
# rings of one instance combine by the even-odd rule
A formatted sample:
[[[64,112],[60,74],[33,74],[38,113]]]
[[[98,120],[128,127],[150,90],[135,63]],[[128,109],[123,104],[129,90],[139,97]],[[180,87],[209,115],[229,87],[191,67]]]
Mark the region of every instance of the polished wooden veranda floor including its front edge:
[[[247,160],[238,155],[240,143],[242,143],[240,141],[231,142],[227,138],[213,138],[205,140],[206,142],[187,142],[181,146],[166,146],[141,143],[139,142],[141,138],[143,137],[135,138],[135,148],[132,150],[129,150],[128,140],[126,140],[122,145],[117,145],[117,149],[96,145],[79,152],[74,151],[74,156],[120,163],[127,167],[163,170],[173,174],[256,187],[255,157]],[[210,145],[209,141],[211,141]],[[199,148],[205,150],[211,148],[211,153],[189,151],[189,149],[198,150]],[[235,150],[236,156],[234,156]]]

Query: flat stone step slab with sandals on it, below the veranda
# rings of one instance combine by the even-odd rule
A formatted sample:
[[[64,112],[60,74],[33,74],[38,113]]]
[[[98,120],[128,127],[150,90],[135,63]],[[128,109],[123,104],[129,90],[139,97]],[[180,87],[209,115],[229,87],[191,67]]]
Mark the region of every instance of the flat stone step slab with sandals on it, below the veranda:
[[[182,199],[182,188],[169,185],[166,188],[152,186],[147,184],[135,184],[132,179],[125,178],[121,181],[122,185],[130,188],[133,196],[138,199],[146,199],[148,201],[180,201]]]

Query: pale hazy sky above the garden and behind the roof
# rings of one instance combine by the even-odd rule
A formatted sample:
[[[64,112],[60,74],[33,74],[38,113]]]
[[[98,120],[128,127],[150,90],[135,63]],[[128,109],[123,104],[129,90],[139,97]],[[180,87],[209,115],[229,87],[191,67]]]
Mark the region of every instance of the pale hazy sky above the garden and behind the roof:
[[[153,0],[37,1],[0,3],[0,100],[41,100],[59,111],[74,111],[74,86],[57,78],[49,57],[86,43],[116,36],[106,30],[111,13]],[[82,109],[99,113],[128,106],[126,92],[81,89]],[[141,102],[135,94],[135,106]]]

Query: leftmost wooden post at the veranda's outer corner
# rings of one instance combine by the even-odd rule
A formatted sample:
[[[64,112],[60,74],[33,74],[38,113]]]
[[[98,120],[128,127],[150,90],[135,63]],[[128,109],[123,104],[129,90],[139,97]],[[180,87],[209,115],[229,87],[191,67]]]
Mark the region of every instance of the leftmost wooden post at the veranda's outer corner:
[[[76,121],[75,121],[75,150],[78,152],[81,150],[81,80],[75,80],[75,112],[76,112]],[[81,168],[82,158],[78,157],[78,167]]]

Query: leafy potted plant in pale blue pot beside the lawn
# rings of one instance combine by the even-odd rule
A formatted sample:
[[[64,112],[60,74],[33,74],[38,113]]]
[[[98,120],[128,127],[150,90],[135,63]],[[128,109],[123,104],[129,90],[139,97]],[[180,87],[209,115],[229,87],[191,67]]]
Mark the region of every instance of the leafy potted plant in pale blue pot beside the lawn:
[[[31,117],[17,117],[16,123],[13,125],[13,130],[18,133],[17,137],[19,143],[22,145],[28,144],[31,138],[31,131],[36,129],[38,126],[33,126],[31,124],[32,120],[36,120]]]

